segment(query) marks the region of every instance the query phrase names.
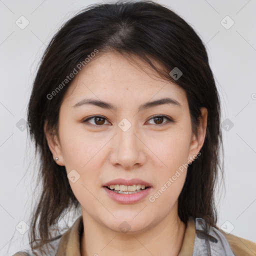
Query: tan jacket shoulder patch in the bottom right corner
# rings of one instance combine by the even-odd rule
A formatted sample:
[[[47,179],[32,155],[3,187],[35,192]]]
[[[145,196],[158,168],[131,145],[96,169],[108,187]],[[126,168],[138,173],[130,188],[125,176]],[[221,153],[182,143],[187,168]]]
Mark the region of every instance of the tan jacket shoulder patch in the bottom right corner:
[[[220,230],[220,231],[227,239],[235,256],[243,256],[243,255],[254,256],[254,255],[256,255],[256,243],[255,242],[235,236],[233,234],[226,234],[222,230]]]

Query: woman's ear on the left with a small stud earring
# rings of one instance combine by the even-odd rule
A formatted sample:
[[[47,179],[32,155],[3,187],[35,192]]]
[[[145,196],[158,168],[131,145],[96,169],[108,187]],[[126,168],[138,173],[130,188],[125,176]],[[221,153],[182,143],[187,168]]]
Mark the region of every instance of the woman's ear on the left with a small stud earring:
[[[52,132],[47,128],[47,121],[45,121],[45,123],[44,123],[43,130],[44,130],[44,134],[45,134],[45,137],[47,140],[48,147],[52,153],[52,158],[55,161],[55,157],[58,157],[58,160],[55,162],[58,165],[64,166],[62,150],[61,150],[61,146],[60,146],[58,137],[55,134],[55,132]]]

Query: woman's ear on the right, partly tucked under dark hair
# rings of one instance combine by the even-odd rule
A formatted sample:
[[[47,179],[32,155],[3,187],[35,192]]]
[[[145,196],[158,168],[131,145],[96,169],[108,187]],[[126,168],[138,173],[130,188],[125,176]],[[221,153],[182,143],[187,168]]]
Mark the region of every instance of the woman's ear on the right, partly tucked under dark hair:
[[[190,140],[190,150],[189,150],[189,158],[187,159],[188,163],[191,163],[195,158],[197,158],[197,154],[199,153],[206,134],[206,126],[207,126],[207,108],[200,108],[201,116],[199,117],[200,122],[197,126],[197,136],[196,134],[192,134]],[[199,154],[198,154],[199,155]]]

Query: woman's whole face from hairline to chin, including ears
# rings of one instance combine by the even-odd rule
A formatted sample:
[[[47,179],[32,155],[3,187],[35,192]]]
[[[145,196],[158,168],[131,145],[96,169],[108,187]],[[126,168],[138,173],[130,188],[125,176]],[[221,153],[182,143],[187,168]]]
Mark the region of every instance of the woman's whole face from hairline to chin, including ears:
[[[57,163],[65,166],[82,215],[114,231],[145,231],[178,218],[187,163],[196,158],[204,140],[205,109],[204,128],[196,138],[184,90],[153,73],[151,69],[149,76],[113,52],[92,59],[64,96],[59,140],[54,143],[47,135]],[[150,187],[132,194],[104,187],[118,178]],[[135,178],[142,181],[129,182]],[[125,191],[137,188],[125,187],[120,180],[113,184],[123,185],[119,189]]]

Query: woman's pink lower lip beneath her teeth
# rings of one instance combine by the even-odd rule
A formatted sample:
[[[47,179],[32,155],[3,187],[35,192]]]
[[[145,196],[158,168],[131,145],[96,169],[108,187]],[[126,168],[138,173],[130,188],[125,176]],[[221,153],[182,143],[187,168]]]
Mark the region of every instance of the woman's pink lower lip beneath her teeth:
[[[111,199],[113,199],[118,203],[124,203],[124,204],[138,202],[143,198],[145,198],[152,190],[152,187],[148,187],[140,192],[133,193],[133,194],[119,194],[119,193],[113,192],[112,190],[107,189],[106,187],[103,187],[103,188]]]

